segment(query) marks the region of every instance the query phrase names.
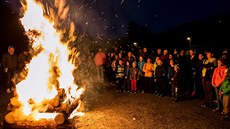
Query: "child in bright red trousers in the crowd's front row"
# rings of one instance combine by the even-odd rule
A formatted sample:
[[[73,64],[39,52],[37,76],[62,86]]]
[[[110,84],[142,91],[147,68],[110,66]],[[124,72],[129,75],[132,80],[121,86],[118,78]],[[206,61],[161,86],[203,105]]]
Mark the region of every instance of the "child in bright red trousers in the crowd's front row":
[[[139,80],[137,63],[134,61],[132,63],[132,68],[130,70],[130,80],[131,80],[131,92],[137,92],[137,80]]]

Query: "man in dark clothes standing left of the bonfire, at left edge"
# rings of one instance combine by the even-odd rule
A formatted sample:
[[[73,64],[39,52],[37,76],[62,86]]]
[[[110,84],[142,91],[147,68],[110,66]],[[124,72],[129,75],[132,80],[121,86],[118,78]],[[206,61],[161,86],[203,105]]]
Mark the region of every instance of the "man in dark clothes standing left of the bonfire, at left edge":
[[[17,70],[17,55],[14,53],[15,48],[13,46],[8,47],[8,52],[2,56],[2,67],[6,73],[6,85],[7,93],[13,90],[14,84],[11,79],[14,77]]]

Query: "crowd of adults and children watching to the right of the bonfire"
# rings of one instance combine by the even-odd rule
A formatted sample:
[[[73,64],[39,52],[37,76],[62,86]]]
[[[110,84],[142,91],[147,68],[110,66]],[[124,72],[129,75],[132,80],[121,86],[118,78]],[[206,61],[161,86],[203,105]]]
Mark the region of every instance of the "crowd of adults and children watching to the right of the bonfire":
[[[173,101],[201,99],[201,107],[229,117],[230,65],[228,49],[119,50],[95,54],[98,81],[108,81],[116,92],[170,96]],[[100,55],[100,56],[99,56]],[[100,62],[100,63],[98,63]],[[99,65],[98,65],[99,64]],[[102,69],[103,68],[103,69]],[[104,72],[99,72],[103,71]],[[105,74],[105,75],[104,75]]]

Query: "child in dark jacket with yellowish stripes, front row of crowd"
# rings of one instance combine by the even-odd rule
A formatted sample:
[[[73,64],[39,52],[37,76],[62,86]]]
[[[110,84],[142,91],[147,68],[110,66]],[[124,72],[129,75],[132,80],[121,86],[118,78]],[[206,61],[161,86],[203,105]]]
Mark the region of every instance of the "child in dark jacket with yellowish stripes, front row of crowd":
[[[119,59],[117,69],[116,69],[116,79],[118,80],[117,90],[116,92],[122,92],[122,86],[124,84],[124,64],[122,59]]]

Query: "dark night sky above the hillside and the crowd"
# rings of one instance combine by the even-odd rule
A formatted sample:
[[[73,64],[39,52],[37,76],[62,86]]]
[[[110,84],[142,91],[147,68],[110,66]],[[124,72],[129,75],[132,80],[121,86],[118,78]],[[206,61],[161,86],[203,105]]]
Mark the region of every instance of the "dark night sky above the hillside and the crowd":
[[[17,0],[6,3],[14,11],[20,7]],[[79,31],[103,37],[127,34],[130,20],[153,33],[164,32],[229,12],[230,0],[72,0],[71,8]]]

